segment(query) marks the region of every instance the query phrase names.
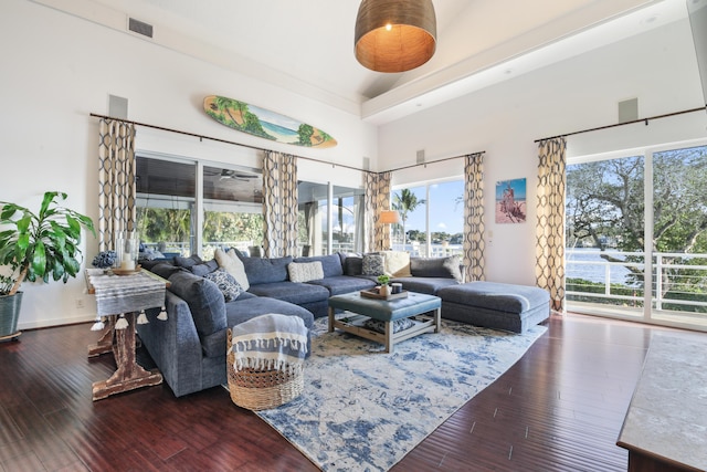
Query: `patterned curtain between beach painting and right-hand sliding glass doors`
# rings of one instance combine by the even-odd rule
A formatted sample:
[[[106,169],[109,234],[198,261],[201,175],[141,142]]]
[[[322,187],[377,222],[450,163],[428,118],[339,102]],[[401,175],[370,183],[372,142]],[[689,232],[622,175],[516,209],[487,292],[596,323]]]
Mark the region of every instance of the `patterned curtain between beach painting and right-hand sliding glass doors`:
[[[567,140],[544,139],[538,145],[538,224],[535,274],[550,292],[552,308],[564,304],[564,166]]]

